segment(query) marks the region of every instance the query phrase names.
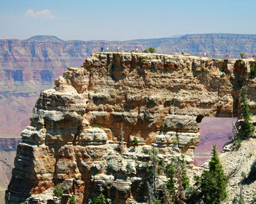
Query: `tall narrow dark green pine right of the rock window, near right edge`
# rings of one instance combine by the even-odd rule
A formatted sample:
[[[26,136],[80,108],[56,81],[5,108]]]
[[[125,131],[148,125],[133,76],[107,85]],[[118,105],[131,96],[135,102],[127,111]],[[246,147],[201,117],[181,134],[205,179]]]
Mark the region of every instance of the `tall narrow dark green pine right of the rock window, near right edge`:
[[[247,99],[246,95],[247,87],[244,86],[241,89],[241,112],[244,116],[244,122],[242,123],[242,130],[244,130],[244,133],[246,133],[246,137],[249,137],[249,135],[254,131],[254,125],[250,123],[250,117],[252,114],[250,113],[249,109],[249,101]]]

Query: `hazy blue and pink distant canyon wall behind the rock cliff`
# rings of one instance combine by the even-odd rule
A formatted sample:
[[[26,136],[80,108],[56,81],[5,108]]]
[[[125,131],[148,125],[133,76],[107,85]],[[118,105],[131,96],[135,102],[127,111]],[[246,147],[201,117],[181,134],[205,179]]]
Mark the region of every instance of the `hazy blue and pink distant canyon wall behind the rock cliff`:
[[[0,40],[0,135],[20,135],[41,90],[68,67],[79,67],[101,47],[115,50],[155,47],[158,53],[256,53],[256,35],[193,34],[134,41],[62,41],[52,36]]]

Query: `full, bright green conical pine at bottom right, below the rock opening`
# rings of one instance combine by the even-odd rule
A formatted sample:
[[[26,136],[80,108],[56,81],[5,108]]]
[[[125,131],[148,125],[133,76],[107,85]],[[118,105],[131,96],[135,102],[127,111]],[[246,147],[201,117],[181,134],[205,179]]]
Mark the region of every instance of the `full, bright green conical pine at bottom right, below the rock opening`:
[[[220,164],[216,144],[213,144],[209,170],[203,171],[200,181],[200,189],[205,204],[218,204],[228,197],[226,181],[227,178]]]

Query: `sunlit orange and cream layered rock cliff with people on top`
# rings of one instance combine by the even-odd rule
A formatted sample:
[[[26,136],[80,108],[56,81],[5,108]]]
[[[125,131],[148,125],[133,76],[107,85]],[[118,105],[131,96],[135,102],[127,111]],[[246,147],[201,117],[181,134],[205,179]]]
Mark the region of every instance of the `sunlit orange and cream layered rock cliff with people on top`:
[[[184,155],[192,168],[197,122],[236,117],[242,85],[255,97],[252,63],[95,53],[81,68],[68,68],[41,93],[22,132],[6,203],[24,202],[57,183],[77,203],[101,192],[112,203],[146,201],[152,149],[164,165]],[[250,105],[255,112],[253,100]],[[160,171],[157,186],[165,180]]]

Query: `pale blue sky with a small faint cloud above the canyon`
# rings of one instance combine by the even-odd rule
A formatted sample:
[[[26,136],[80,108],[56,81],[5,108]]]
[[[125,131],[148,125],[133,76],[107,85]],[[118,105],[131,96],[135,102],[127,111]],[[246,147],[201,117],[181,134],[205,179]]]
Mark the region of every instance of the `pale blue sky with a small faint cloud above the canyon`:
[[[0,39],[149,39],[256,34],[255,0],[0,0]]]

